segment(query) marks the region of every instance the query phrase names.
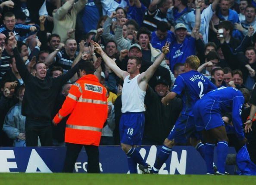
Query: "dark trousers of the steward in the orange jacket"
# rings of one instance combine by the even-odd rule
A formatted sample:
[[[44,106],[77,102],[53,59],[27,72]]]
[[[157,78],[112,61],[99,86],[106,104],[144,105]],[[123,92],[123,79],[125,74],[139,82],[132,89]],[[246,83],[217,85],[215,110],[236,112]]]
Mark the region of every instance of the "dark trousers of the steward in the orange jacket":
[[[87,173],[100,173],[99,148],[94,145],[80,145],[66,142],[67,152],[62,172],[72,173],[78,154],[84,146],[88,157]]]

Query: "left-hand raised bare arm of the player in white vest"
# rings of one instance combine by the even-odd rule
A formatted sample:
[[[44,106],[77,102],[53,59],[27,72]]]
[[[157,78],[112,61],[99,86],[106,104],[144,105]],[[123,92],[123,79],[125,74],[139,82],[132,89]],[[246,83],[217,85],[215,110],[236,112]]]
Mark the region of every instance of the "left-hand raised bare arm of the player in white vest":
[[[109,66],[109,68],[114,71],[114,73],[116,73],[116,75],[121,78],[122,80],[125,79],[126,76],[129,75],[129,73],[127,71],[122,71],[117,65],[116,62],[113,61],[112,59],[110,59],[105,52],[103,52],[102,48],[100,47],[100,45],[96,42],[94,42],[94,46],[95,46],[95,50],[97,53],[100,54],[101,58],[103,59],[103,61],[106,63],[107,66]]]

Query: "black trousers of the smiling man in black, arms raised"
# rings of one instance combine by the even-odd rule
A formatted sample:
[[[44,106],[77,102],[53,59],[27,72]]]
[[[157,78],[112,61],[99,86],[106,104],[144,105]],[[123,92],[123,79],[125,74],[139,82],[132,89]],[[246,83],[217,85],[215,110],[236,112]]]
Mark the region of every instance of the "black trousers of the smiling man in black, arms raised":
[[[26,146],[37,146],[38,136],[41,146],[53,145],[53,128],[48,120],[26,118]]]

